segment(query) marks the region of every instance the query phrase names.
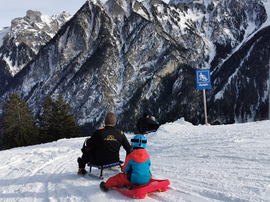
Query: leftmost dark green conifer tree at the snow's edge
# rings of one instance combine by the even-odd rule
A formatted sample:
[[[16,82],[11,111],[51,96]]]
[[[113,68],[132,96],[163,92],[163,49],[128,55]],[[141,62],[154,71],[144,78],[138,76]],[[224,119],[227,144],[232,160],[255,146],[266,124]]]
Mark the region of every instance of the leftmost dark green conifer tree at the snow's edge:
[[[5,101],[3,123],[4,148],[38,144],[38,129],[26,102],[18,94],[11,94]]]

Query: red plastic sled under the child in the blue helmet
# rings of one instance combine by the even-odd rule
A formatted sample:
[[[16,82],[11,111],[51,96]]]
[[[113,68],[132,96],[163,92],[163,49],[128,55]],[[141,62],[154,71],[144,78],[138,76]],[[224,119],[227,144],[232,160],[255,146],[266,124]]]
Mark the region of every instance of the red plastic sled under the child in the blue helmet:
[[[112,189],[131,198],[143,199],[147,196],[149,192],[153,192],[155,190],[158,190],[160,192],[166,192],[168,190],[169,184],[169,180],[150,179],[149,183],[143,185],[132,185],[131,189],[120,189],[115,186],[112,187]]]

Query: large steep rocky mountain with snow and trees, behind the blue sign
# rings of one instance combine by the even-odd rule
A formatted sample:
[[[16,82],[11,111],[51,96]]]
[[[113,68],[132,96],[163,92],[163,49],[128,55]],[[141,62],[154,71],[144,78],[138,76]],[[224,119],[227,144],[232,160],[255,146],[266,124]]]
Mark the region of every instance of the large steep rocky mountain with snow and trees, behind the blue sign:
[[[47,94],[61,93],[88,132],[108,110],[125,131],[143,111],[199,124],[195,70],[210,68],[209,122],[266,119],[269,2],[86,1],[7,84],[0,105],[18,92],[37,115]]]

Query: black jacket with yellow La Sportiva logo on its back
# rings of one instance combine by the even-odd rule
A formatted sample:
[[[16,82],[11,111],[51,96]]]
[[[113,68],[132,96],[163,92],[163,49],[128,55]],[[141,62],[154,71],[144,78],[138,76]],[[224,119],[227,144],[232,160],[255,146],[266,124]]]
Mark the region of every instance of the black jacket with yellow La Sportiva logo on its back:
[[[121,130],[117,130],[113,126],[105,126],[95,130],[92,136],[86,140],[86,145],[90,150],[95,151],[95,157],[99,165],[115,163],[120,160],[120,147],[130,154],[131,145],[127,137]]]

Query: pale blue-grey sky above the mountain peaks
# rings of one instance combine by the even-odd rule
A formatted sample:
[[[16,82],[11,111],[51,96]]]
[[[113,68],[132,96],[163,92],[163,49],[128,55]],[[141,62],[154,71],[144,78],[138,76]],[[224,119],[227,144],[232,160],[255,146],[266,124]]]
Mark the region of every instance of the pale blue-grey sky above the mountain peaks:
[[[0,28],[9,27],[11,25],[11,20],[18,17],[26,16],[27,10],[39,10],[44,15],[52,16],[54,13],[60,11],[67,11],[71,15],[74,15],[77,10],[80,9],[82,4],[86,0],[12,0],[7,2],[0,0]],[[106,2],[107,0],[101,0]],[[139,0],[142,1],[142,0]],[[169,2],[169,0],[164,0]]]

